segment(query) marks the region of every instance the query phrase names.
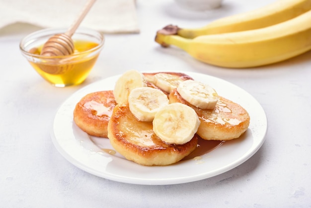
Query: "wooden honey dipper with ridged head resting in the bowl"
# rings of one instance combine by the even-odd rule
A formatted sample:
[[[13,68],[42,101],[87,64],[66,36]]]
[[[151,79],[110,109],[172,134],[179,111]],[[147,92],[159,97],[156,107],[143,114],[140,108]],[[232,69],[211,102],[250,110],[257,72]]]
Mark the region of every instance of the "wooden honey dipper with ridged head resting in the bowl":
[[[94,4],[95,0],[89,0],[77,20],[73,23],[73,25],[63,34],[56,34],[50,37],[47,42],[43,45],[40,55],[43,56],[66,56],[74,53],[75,46],[74,41],[71,36],[77,30],[79,24],[89,11],[89,9]],[[45,71],[45,70],[44,70]],[[48,70],[51,71],[51,70]],[[56,70],[58,71],[58,70]]]

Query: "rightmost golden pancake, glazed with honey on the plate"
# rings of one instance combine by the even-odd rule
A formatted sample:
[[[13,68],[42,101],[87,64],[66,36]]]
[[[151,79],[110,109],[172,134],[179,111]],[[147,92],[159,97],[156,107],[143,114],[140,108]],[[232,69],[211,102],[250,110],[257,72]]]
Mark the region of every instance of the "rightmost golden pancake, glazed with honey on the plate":
[[[169,94],[169,102],[187,104],[196,111],[201,121],[197,134],[206,140],[238,138],[249,126],[248,112],[223,97],[219,97],[214,109],[201,109],[185,101],[175,89]]]

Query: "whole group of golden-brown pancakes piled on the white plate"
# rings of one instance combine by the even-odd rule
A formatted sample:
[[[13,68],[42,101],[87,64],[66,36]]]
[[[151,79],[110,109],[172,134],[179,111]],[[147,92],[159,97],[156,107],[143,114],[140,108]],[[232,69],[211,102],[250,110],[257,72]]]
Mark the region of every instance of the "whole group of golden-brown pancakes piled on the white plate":
[[[181,80],[192,79],[183,73],[161,73],[178,76]],[[144,73],[148,87],[158,88],[152,81],[155,74]],[[94,92],[83,97],[74,110],[74,121],[89,135],[109,138],[113,148],[126,159],[146,166],[176,163],[196,149],[199,139],[235,139],[249,126],[248,112],[226,98],[220,97],[214,109],[201,109],[186,102],[176,89],[164,93],[170,103],[192,107],[201,121],[197,133],[185,144],[163,142],[154,133],[152,122],[137,120],[128,103],[116,103],[112,91]]]

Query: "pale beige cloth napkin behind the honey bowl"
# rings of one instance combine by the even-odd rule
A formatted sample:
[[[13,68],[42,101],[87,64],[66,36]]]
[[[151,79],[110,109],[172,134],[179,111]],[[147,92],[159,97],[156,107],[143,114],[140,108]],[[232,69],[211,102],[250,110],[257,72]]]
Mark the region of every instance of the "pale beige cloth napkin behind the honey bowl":
[[[0,28],[16,22],[70,27],[87,0],[0,0]],[[96,0],[80,26],[105,33],[137,33],[135,0]]]

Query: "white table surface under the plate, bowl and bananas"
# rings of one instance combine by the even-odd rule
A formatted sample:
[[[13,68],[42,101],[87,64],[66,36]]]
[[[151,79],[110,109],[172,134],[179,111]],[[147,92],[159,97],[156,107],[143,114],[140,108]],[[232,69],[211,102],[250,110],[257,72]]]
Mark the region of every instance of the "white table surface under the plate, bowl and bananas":
[[[203,26],[272,1],[224,0],[219,9],[190,12],[172,0],[138,0],[140,34],[107,34],[87,80],[68,88],[49,85],[19,52],[20,39],[39,28],[1,29],[0,207],[311,207],[311,52],[256,69],[226,69],[154,41],[167,24]],[[199,72],[243,88],[266,112],[265,143],[233,170],[178,185],[125,184],[78,169],[52,143],[57,108],[78,89],[129,69]]]

